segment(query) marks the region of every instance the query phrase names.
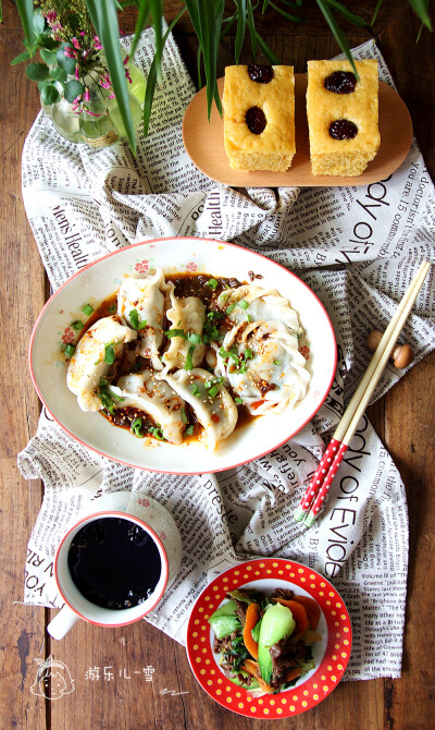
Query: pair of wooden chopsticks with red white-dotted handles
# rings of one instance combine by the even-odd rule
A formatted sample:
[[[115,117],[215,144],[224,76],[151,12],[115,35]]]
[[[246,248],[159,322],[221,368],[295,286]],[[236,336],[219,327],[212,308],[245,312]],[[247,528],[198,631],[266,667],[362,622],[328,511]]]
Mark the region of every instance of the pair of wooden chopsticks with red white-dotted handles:
[[[311,479],[303,498],[295,512],[295,520],[311,527],[326,498],[331,483],[343,461],[346,449],[357,430],[359,421],[364,413],[373,391],[384,372],[385,365],[393,352],[400,331],[412,309],[415,299],[423,285],[423,281],[431,268],[428,261],[423,261],[413,277],[403,299],[398,305],[395,315],[385,330],[372,360],[369,363],[361,381],[347,406],[331,442]]]

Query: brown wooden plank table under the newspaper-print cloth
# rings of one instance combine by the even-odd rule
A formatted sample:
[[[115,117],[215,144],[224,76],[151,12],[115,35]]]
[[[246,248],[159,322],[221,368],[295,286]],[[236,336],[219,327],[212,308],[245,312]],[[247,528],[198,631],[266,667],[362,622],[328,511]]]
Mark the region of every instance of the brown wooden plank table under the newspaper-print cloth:
[[[52,612],[21,603],[26,544],[41,502],[42,486],[21,477],[16,453],[35,435],[38,422],[39,403],[28,374],[26,353],[32,327],[48,295],[48,284],[21,196],[21,153],[39,109],[38,93],[36,85],[27,81],[23,66],[10,66],[11,59],[23,50],[22,29],[15,8],[9,0],[2,4],[1,727],[32,730],[196,730],[202,727],[260,730],[270,727],[265,721],[236,717],[213,703],[196,683],[185,649],[145,622],[113,631],[80,622],[64,641],[57,643],[45,632]],[[296,71],[304,70],[307,59],[330,58],[337,52],[335,41],[312,4],[304,3],[312,19],[303,26],[287,25],[277,16],[268,16],[261,23],[275,53],[283,62],[294,63]],[[368,2],[361,12],[370,17],[374,5],[374,0]],[[174,17],[178,7],[175,0],[165,3],[167,20]],[[352,7],[356,9],[355,3]],[[134,15],[129,13],[122,21],[127,32],[133,28]],[[419,25],[405,1],[385,0],[375,31],[398,90],[410,109],[417,137],[434,178],[434,38],[424,32],[415,46]],[[353,46],[369,37],[364,29],[346,22],[343,27]],[[187,19],[179,24],[176,39],[195,77],[196,42]],[[225,64],[233,62],[233,47],[234,37],[229,36],[220,54],[220,73]],[[249,60],[248,45],[243,60]],[[432,704],[435,573],[431,574],[435,542],[435,499],[431,494],[435,471],[434,386],[435,353],[432,353],[370,410],[370,417],[400,471],[409,498],[410,564],[402,678],[343,682],[319,707],[281,721],[279,727],[303,727],[304,730],[435,727]],[[30,693],[36,677],[35,659],[50,654],[65,662],[76,686],[74,693],[57,702]],[[134,673],[147,666],[154,668],[150,682]],[[102,678],[104,667],[112,668],[111,681]],[[100,679],[97,679],[96,668],[99,668]],[[182,694],[162,694],[164,689]]]

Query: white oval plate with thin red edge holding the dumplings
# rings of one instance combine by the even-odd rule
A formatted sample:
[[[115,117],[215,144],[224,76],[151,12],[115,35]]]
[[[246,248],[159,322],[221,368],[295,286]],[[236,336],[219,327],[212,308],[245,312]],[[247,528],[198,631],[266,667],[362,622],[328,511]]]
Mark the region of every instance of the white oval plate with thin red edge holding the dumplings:
[[[258,416],[238,428],[214,451],[202,443],[173,446],[138,439],[112,426],[99,413],[84,413],[66,387],[63,349],[70,325],[86,320],[82,307],[96,307],[120,287],[125,276],[161,267],[167,275],[204,272],[277,289],[290,300],[304,329],[302,353],[311,381],[304,399],[293,411]],[[304,349],[303,349],[304,348]],[[41,311],[29,345],[29,367],[39,398],[53,418],[73,438],[117,462],[166,474],[203,474],[244,464],[288,441],[318,412],[325,400],[336,366],[336,342],[331,320],[315,294],[294,273],[260,254],[220,241],[196,238],[157,239],[115,251],[69,279]]]

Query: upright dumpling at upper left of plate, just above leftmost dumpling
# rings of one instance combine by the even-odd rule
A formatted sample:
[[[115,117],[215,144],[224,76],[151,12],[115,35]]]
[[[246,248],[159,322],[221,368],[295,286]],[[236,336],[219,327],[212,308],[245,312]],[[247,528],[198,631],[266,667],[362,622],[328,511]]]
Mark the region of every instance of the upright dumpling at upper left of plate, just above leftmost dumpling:
[[[159,348],[163,342],[165,295],[173,288],[165,283],[162,269],[151,269],[149,273],[127,277],[117,292],[117,314],[138,331],[139,355],[149,358],[154,370],[163,368]]]

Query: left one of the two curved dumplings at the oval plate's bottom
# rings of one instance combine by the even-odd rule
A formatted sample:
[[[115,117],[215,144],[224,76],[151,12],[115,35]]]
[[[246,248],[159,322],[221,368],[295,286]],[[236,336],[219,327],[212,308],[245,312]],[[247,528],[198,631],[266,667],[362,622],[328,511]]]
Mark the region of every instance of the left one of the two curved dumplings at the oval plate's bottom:
[[[166,441],[183,443],[185,402],[165,380],[158,380],[151,370],[146,369],[123,375],[116,387],[109,386],[109,390],[115,396],[115,407],[133,406],[145,411],[161,427]]]

